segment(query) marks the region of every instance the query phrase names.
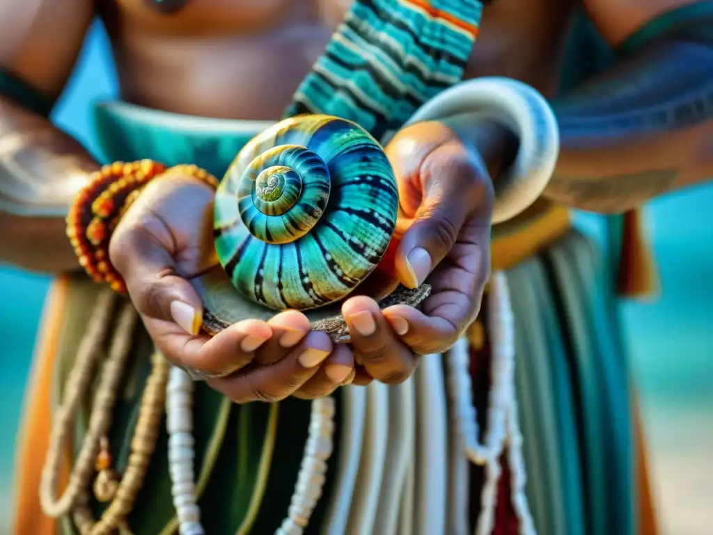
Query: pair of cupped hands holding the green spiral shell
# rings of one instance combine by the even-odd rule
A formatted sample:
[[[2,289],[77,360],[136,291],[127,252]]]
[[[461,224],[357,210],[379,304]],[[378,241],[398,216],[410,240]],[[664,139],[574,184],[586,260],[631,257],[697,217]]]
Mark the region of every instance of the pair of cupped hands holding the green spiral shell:
[[[385,150],[399,187],[396,274],[412,288],[428,277],[431,295],[421,310],[380,310],[370,297],[350,297],[342,305],[349,344],[312,331],[296,310],[200,334],[202,302],[188,281],[215,258],[207,250],[214,192],[193,178],[166,176],[145,188],[110,245],[158,350],[242,403],[314,399],[374,379],[397,384],[419,356],[451,347],[475,319],[490,271],[491,178],[481,155],[442,123],[407,126]]]

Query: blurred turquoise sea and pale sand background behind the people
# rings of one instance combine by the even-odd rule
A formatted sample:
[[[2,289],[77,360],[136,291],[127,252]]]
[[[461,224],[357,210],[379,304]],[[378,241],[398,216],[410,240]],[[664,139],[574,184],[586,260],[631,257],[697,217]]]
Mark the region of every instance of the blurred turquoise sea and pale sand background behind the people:
[[[96,151],[90,105],[113,96],[111,52],[103,29],[95,25],[55,120]],[[650,304],[622,303],[665,534],[713,534],[711,207],[713,184],[650,205],[647,218],[662,296]],[[602,234],[597,216],[582,215],[580,223]],[[8,530],[14,437],[49,282],[48,277],[0,266],[0,534]]]

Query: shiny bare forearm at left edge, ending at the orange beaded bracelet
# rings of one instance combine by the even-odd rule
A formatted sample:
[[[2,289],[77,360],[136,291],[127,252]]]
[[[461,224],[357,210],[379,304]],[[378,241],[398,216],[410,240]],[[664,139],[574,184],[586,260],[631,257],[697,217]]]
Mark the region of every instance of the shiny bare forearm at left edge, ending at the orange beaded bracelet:
[[[43,272],[78,269],[64,218],[96,169],[71,136],[0,96],[0,262]]]

